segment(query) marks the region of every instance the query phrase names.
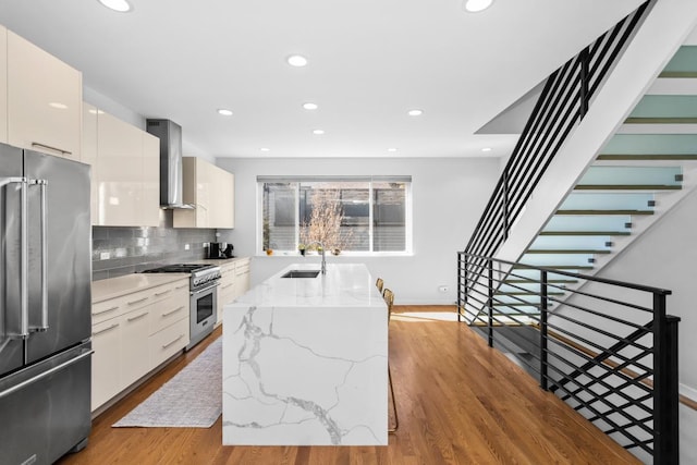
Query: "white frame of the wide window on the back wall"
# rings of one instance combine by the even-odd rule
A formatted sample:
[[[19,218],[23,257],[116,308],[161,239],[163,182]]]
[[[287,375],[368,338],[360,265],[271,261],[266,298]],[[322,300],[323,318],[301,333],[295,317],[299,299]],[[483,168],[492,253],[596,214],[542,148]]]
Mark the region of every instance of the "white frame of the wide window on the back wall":
[[[256,253],[257,256],[268,256],[264,248],[264,184],[265,183],[296,183],[294,196],[295,208],[295,244],[299,242],[301,224],[299,224],[299,185],[307,182],[368,182],[368,238],[370,250],[341,250],[340,256],[347,257],[407,257],[414,255],[413,249],[413,191],[411,175],[257,175],[256,180],[256,198],[257,198],[257,220],[256,220]],[[404,183],[405,206],[404,206],[404,250],[379,250],[374,248],[374,210],[375,210],[375,191],[374,183],[378,182],[399,182]],[[299,252],[273,249],[273,256],[299,256]]]

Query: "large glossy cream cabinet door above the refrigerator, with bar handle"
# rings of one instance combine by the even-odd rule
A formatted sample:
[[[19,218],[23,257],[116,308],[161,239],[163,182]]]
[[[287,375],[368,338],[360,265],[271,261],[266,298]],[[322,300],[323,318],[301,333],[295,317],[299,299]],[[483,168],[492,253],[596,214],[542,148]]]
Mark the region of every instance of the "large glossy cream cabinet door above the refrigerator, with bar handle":
[[[82,73],[7,32],[7,139],[81,160]]]

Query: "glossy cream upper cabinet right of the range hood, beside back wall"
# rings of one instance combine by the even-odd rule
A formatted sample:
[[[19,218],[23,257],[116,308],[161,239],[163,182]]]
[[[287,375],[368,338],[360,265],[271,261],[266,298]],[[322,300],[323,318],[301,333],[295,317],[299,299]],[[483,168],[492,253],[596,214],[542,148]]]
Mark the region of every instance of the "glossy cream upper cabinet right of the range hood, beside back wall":
[[[234,175],[197,157],[184,157],[183,170],[184,204],[195,208],[174,210],[174,228],[234,228]]]

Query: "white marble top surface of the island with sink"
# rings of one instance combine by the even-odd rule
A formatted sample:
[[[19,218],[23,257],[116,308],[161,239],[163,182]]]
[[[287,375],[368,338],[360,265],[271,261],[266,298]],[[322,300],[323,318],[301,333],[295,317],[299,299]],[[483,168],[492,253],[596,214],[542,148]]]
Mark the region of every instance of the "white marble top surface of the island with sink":
[[[363,264],[327,264],[317,278],[281,278],[290,270],[319,270],[319,264],[293,264],[239,297],[234,304],[259,307],[384,308]],[[233,305],[234,305],[233,304]]]

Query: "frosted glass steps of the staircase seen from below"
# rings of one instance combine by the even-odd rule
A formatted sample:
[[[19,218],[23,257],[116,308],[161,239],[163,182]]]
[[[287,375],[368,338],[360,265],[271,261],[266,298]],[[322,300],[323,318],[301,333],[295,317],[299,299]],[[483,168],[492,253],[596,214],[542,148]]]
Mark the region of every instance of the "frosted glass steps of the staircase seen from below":
[[[677,95],[692,90],[695,95]],[[592,276],[697,186],[697,46],[682,46],[549,218],[519,262]],[[514,272],[494,295],[501,321],[539,317],[539,289]],[[550,276],[562,287],[577,282]]]

